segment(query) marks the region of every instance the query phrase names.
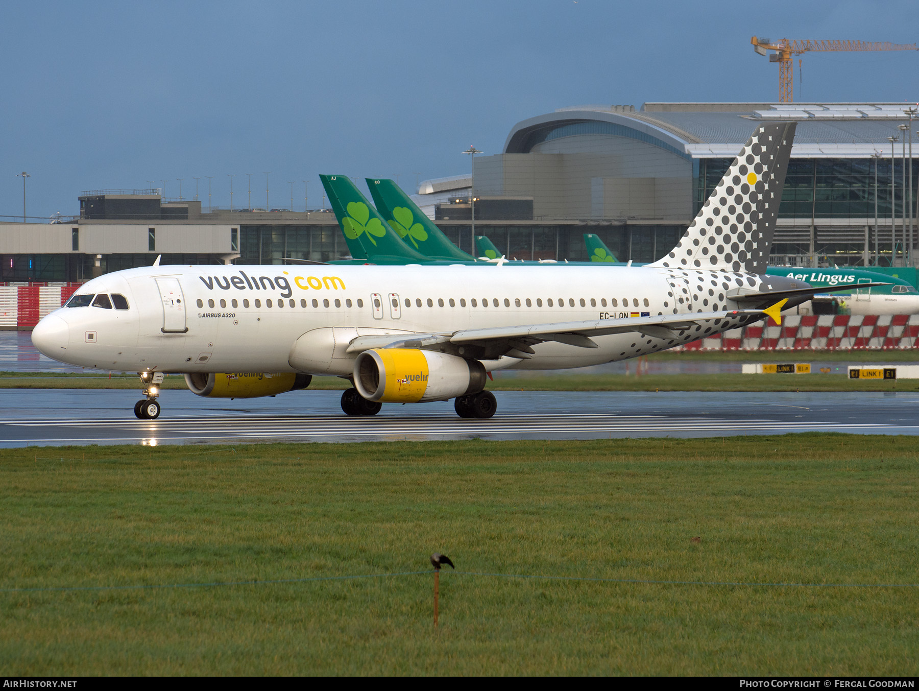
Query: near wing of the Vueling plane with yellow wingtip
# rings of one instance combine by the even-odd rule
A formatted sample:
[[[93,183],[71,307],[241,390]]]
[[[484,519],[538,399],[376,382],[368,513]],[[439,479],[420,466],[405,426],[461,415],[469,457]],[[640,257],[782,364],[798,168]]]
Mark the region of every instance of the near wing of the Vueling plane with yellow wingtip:
[[[432,348],[449,344],[453,347],[474,345],[504,351],[510,357],[532,357],[534,351],[530,345],[544,341],[557,341],[582,348],[596,348],[591,336],[607,334],[639,333],[653,338],[677,338],[680,332],[693,327],[700,327],[711,322],[729,317],[745,315],[764,315],[776,319],[782,305],[781,300],[767,310],[728,310],[720,312],[686,312],[682,314],[664,314],[647,317],[626,317],[622,319],[600,319],[589,322],[557,322],[524,324],[520,326],[494,326],[484,329],[463,329],[453,333],[441,334],[405,334],[357,336],[347,347],[348,353],[360,353],[373,348]]]

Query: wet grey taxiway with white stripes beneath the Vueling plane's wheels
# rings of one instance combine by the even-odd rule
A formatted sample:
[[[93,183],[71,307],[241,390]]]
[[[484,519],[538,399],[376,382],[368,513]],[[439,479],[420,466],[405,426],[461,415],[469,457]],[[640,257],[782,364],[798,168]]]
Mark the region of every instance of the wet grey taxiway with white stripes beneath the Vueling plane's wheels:
[[[788,432],[919,434],[919,393],[497,391],[491,420],[452,403],[384,405],[347,417],[340,391],[212,401],[166,391],[158,420],[132,413],[136,391],[0,390],[0,447],[395,439],[597,439]]]

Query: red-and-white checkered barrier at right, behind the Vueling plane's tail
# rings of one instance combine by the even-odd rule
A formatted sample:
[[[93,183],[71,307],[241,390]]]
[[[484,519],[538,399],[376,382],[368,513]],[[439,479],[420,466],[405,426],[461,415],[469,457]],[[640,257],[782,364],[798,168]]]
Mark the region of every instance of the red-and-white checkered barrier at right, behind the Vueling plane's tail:
[[[821,314],[771,319],[682,350],[903,350],[919,347],[919,314]]]

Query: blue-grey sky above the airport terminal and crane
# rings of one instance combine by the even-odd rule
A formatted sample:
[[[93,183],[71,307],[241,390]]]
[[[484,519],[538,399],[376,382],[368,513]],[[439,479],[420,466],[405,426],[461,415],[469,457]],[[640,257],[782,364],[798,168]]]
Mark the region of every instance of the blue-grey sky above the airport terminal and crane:
[[[555,108],[770,101],[750,36],[917,40],[914,2],[221,2],[0,5],[0,214],[76,213],[81,190],[318,207],[320,173],[457,175],[471,143]],[[797,64],[797,63],[796,63]],[[919,52],[804,56],[803,100],[917,101]],[[795,77],[797,79],[797,69]],[[801,85],[796,85],[796,87]],[[796,97],[796,100],[801,100]]]

